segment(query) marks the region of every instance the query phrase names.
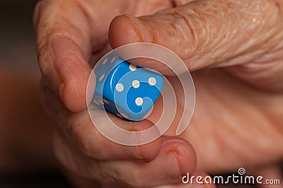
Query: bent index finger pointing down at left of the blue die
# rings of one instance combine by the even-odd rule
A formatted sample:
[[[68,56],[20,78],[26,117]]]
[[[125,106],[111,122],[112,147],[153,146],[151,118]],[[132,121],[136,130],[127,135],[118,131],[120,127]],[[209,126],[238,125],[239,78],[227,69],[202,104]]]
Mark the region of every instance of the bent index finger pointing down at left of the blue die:
[[[91,30],[73,1],[40,1],[35,8],[37,54],[47,83],[72,111],[86,108]],[[69,18],[66,18],[69,16]]]

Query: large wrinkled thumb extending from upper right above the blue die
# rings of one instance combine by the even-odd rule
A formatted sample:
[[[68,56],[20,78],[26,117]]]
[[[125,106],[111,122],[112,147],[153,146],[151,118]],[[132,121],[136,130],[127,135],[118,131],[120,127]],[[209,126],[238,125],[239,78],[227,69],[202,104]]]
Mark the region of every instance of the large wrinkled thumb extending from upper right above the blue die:
[[[190,71],[245,64],[275,46],[279,7],[275,1],[200,0],[150,16],[117,16],[110,25],[110,45],[163,45],[178,54]],[[156,61],[144,66],[170,74]]]

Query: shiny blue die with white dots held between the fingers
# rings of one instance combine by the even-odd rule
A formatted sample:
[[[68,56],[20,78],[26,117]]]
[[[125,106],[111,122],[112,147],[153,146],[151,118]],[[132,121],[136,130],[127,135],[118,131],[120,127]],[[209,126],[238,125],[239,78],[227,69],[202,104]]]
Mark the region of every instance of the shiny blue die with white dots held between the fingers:
[[[143,119],[163,88],[163,76],[130,64],[119,56],[99,61],[92,102],[122,119]]]

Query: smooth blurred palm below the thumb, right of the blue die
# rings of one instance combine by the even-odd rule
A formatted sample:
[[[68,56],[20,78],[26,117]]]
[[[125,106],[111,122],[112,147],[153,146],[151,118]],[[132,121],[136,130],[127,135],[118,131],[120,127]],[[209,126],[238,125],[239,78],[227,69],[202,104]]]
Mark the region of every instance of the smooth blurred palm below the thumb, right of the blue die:
[[[253,168],[282,157],[283,94],[253,88],[222,69],[192,76],[195,112],[181,136],[194,146],[200,170]],[[175,127],[168,134],[173,135]]]

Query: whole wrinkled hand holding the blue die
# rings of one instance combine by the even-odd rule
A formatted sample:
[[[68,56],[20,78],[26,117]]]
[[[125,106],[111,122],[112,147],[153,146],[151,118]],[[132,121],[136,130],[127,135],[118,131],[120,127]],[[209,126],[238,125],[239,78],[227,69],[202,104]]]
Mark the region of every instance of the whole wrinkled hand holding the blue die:
[[[45,108],[59,125],[57,158],[101,186],[181,187],[175,183],[186,172],[236,172],[241,166],[250,174],[272,169],[267,174],[278,177],[270,166],[283,156],[282,20],[279,0],[40,1],[34,15],[37,54]],[[168,47],[192,71],[195,114],[180,137],[174,136],[178,117],[167,136],[136,147],[108,141],[91,124],[88,62],[110,46],[132,42]],[[179,95],[167,67],[136,63],[171,76]],[[110,117],[125,129],[146,129],[160,108],[157,102],[157,110],[141,122]]]

